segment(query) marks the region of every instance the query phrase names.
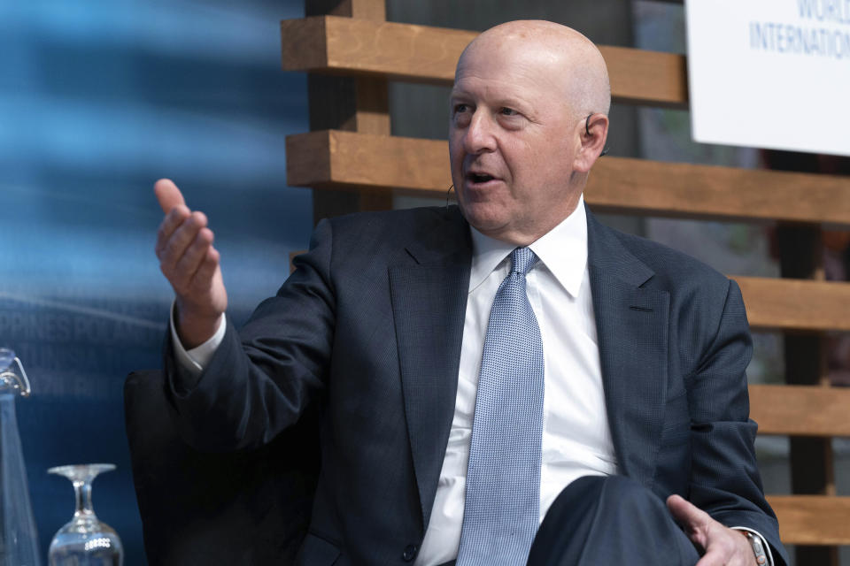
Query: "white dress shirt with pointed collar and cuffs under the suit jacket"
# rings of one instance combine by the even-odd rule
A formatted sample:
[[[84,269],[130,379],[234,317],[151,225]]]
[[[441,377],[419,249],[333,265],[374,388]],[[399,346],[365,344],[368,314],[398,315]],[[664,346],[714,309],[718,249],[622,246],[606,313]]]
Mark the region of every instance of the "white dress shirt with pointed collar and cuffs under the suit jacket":
[[[515,248],[475,228],[471,231],[473,257],[454,417],[416,566],[436,566],[458,555],[484,337],[493,299],[510,272],[510,254]],[[617,473],[617,461],[602,387],[587,268],[587,215],[583,196],[568,218],[529,248],[540,260],[526,275],[526,289],[540,325],[544,352],[540,470],[540,521],[543,521],[546,511],[564,487],[582,476],[613,475]],[[172,315],[174,351],[182,367],[195,375],[203,371],[223,340],[225,327],[222,315],[218,332],[204,344],[187,351],[177,337]],[[746,527],[742,529],[752,531]],[[758,532],[753,533],[761,538]],[[764,546],[769,553],[766,542]],[[772,562],[771,556],[769,564]]]

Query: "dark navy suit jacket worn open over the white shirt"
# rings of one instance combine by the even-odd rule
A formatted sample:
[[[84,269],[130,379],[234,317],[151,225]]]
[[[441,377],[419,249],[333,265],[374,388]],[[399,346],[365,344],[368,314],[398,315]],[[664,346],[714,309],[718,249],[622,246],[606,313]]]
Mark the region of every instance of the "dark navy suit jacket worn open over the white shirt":
[[[591,293],[621,473],[784,550],[748,420],[738,286],[588,210]],[[452,424],[471,242],[457,207],[323,221],[197,385],[166,356],[194,447],[258,446],[321,403],[321,475],[300,562],[403,564],[421,544]],[[777,554],[777,550],[780,554]],[[336,561],[336,562],[335,562]]]

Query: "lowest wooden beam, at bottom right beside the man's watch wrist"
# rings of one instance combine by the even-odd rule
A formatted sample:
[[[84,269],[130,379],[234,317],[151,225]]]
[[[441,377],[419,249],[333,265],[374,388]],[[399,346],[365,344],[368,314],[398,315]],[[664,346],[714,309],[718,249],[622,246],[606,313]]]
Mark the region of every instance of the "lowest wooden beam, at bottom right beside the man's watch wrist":
[[[779,537],[790,545],[850,545],[850,497],[769,495]]]

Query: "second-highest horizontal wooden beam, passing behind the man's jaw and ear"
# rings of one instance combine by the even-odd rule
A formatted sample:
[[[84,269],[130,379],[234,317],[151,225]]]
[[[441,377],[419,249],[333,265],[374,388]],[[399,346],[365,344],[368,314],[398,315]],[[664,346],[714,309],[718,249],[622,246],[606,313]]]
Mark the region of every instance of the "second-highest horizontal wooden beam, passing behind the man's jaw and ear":
[[[448,146],[437,140],[321,131],[287,138],[291,186],[383,187],[444,195]],[[602,157],[585,199],[594,210],[668,218],[850,226],[850,177]]]

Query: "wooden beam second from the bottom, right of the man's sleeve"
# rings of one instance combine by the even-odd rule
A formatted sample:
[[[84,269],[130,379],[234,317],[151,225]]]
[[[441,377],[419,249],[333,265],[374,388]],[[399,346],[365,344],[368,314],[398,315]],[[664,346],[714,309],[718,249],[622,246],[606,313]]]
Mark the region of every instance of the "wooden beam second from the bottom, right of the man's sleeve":
[[[759,434],[850,436],[850,389],[750,386],[750,417]]]

